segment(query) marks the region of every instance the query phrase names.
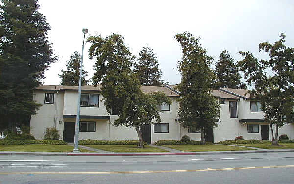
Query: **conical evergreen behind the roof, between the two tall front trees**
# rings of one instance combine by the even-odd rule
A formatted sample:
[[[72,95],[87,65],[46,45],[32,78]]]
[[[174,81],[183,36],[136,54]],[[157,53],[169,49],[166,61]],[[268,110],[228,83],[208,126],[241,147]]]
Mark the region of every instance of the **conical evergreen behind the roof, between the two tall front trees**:
[[[140,80],[141,85],[162,86],[161,70],[158,68],[158,61],[153,49],[144,47],[139,52],[138,63],[135,63],[134,72]]]

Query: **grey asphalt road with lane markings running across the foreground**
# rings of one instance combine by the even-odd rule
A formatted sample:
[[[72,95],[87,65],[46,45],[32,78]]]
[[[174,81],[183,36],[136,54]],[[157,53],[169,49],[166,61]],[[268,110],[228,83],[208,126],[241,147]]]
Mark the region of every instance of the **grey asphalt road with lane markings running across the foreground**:
[[[294,153],[0,156],[0,184],[294,184]]]

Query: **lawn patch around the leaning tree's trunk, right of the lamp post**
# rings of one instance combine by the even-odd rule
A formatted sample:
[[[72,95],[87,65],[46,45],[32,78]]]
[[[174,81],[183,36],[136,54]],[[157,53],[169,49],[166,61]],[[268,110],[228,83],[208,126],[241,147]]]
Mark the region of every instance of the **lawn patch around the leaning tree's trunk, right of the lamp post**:
[[[85,145],[91,148],[106,150],[110,152],[168,152],[166,150],[145,145],[143,149],[137,145]]]

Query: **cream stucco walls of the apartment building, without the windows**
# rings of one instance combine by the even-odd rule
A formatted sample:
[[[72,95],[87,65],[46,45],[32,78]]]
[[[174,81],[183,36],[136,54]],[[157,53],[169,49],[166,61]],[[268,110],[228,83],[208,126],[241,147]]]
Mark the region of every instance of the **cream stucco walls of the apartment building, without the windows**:
[[[37,110],[36,115],[31,116],[31,133],[37,139],[43,139],[44,131],[47,127],[55,127],[59,130],[61,139],[65,139],[65,134],[68,136],[70,128],[73,128],[75,123],[75,115],[77,110],[77,88],[75,86],[44,86],[39,87],[34,91],[33,100],[41,103],[42,106]],[[150,86],[152,87],[152,86]],[[166,90],[166,94],[174,94],[165,87],[157,87],[156,90]],[[148,86],[144,88],[149,89]],[[152,89],[153,90],[153,89]],[[45,94],[54,94],[53,103],[45,103]],[[111,115],[107,112],[103,97],[97,89],[86,88],[82,90],[82,94],[98,94],[98,106],[82,106],[80,115],[81,122],[95,122],[95,131],[80,131],[79,139],[96,139],[96,140],[137,140],[138,135],[134,127],[114,126],[113,122],[117,119],[116,115]],[[217,127],[213,129],[213,142],[222,140],[232,140],[237,136],[243,136],[244,139],[262,139],[261,126],[269,126],[263,121],[263,112],[251,112],[250,99],[242,98],[242,96],[234,94],[226,94],[225,91],[220,91],[214,96],[223,98],[225,104],[221,104],[221,116],[217,122]],[[200,140],[200,133],[189,133],[188,128],[180,126],[178,122],[178,95],[170,96],[172,105],[170,110],[160,113],[161,123],[168,124],[168,132],[155,133],[154,125],[151,125],[151,143],[158,140],[180,140],[182,136],[188,135],[191,140]],[[237,103],[237,117],[230,117],[229,102]],[[93,124],[93,123],[92,123]],[[254,125],[255,129],[258,126],[258,132],[248,133],[248,125]],[[264,128],[264,127],[263,127]],[[270,128],[269,128],[270,130]],[[265,132],[263,132],[265,134]],[[269,131],[271,134],[271,131]],[[279,135],[287,134],[290,139],[294,139],[294,123],[287,124],[279,129]],[[271,137],[271,136],[270,136]]]

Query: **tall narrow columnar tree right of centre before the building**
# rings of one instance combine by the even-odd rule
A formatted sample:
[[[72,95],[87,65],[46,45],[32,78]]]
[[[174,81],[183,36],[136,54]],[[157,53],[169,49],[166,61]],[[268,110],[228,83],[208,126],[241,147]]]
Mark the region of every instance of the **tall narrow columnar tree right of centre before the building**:
[[[182,60],[178,61],[178,71],[182,74],[177,89],[179,99],[179,123],[187,128],[201,130],[201,144],[205,144],[204,129],[217,126],[221,107],[211,94],[211,83],[215,78],[209,64],[212,57],[200,45],[200,38],[191,33],[176,34],[182,47]]]

